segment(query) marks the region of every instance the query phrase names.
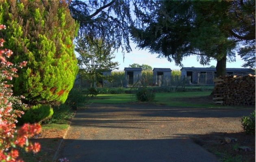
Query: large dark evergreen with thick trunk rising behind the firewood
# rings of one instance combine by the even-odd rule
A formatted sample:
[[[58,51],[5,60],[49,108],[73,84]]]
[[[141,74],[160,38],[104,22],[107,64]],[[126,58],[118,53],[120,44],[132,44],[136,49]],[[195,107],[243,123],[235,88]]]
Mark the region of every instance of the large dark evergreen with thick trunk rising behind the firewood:
[[[138,25],[132,28],[133,40],[138,47],[174,60],[177,65],[182,66],[182,59],[189,55],[197,55],[203,65],[215,59],[217,76],[223,76],[227,59],[235,60],[239,42],[249,36],[255,40],[251,33],[237,39],[238,31],[248,30],[237,30],[241,23],[234,19],[232,7],[236,4],[232,1],[148,2],[135,6]],[[255,8],[255,3],[249,7]],[[255,12],[252,15],[255,17]]]

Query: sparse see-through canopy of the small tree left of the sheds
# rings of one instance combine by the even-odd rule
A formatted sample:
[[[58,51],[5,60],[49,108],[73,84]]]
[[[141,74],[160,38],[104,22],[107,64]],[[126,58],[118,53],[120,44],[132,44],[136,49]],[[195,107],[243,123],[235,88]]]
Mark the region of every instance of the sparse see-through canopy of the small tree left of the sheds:
[[[118,69],[118,62],[112,61],[115,55],[113,55],[111,47],[108,47],[101,39],[79,38],[76,41],[75,50],[79,53],[80,77],[88,79],[91,84],[94,83],[94,86],[97,78],[104,77],[102,72]]]

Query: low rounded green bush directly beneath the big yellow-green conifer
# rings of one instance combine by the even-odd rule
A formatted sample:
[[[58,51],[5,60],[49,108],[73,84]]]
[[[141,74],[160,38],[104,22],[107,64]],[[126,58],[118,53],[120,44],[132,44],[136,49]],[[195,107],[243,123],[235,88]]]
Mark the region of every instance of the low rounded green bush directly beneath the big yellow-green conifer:
[[[53,109],[49,104],[47,105],[37,104],[23,111],[25,114],[18,119],[19,124],[41,123],[53,115]]]

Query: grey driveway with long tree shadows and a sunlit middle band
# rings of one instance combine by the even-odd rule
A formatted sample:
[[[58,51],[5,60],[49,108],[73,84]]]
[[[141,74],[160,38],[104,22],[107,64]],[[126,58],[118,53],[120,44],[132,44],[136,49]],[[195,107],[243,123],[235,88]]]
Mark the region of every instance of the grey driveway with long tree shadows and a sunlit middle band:
[[[70,162],[218,162],[191,137],[242,131],[251,110],[91,104],[78,110],[59,157]]]

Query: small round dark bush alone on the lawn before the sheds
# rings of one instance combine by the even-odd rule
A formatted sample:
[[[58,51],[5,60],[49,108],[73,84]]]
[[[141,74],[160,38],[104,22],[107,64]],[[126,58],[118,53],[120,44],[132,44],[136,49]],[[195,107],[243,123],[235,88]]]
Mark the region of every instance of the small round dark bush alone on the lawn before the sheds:
[[[151,88],[143,87],[138,90],[136,93],[136,98],[141,102],[153,101],[156,97],[156,94],[153,92]]]

